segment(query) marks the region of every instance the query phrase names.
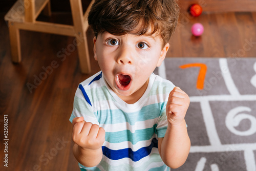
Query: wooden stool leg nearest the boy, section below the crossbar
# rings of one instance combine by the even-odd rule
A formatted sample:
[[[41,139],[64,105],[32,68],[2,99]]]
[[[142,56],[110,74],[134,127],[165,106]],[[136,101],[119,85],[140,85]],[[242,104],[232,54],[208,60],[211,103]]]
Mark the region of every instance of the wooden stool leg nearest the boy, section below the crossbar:
[[[77,35],[79,36],[79,35]],[[76,36],[76,44],[79,56],[79,63],[81,72],[88,74],[91,72],[90,55],[88,49],[88,42],[86,33],[81,32],[80,36]]]

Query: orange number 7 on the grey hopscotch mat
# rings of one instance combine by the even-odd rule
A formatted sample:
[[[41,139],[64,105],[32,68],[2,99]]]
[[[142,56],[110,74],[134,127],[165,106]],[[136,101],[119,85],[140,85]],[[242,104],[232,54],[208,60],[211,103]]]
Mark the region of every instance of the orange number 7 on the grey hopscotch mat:
[[[197,89],[204,89],[204,78],[207,71],[207,66],[204,63],[187,63],[183,66],[180,66],[181,69],[190,67],[200,67],[200,71],[197,78]]]

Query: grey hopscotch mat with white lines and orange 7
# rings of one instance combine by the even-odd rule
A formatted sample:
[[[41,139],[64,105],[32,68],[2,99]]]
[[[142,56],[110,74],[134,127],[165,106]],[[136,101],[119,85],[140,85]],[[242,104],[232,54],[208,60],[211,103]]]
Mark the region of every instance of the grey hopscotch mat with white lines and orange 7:
[[[190,97],[190,153],[172,170],[256,171],[256,58],[165,58],[154,73]]]

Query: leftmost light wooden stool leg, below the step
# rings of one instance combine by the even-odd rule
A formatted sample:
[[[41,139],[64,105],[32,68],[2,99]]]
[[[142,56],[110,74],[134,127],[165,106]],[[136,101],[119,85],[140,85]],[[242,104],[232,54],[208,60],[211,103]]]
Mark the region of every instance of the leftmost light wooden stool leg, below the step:
[[[15,63],[19,63],[20,61],[22,61],[22,53],[20,51],[19,29],[13,22],[9,22],[8,24],[12,61]]]

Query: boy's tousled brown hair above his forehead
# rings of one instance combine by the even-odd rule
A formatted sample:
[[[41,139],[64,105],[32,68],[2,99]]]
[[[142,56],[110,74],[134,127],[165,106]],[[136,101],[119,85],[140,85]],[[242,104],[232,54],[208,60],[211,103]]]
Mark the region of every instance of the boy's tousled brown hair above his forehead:
[[[95,36],[103,32],[114,35],[160,34],[163,46],[178,23],[177,0],[96,0],[88,16]]]

